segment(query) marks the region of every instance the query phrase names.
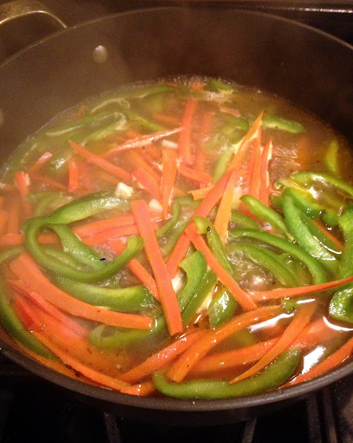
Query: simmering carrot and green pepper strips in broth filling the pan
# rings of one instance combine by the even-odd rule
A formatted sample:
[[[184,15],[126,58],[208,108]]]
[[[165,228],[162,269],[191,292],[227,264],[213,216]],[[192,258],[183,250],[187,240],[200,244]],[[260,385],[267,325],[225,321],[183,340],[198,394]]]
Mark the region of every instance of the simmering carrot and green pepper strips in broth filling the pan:
[[[353,349],[343,161],[327,125],[221,79],[88,100],[3,170],[3,338],[129,395],[233,398],[332,370]]]

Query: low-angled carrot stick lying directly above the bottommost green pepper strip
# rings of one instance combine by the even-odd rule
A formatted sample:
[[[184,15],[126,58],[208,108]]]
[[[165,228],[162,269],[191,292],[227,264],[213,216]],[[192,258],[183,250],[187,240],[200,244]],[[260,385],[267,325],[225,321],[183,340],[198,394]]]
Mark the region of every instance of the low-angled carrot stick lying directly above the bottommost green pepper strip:
[[[271,338],[271,340],[261,341],[255,345],[226,352],[217,352],[216,354],[206,356],[192,370],[192,377],[199,377],[209,372],[227,370],[237,368],[237,366],[255,363],[255,361],[260,360],[277,341],[278,338]]]

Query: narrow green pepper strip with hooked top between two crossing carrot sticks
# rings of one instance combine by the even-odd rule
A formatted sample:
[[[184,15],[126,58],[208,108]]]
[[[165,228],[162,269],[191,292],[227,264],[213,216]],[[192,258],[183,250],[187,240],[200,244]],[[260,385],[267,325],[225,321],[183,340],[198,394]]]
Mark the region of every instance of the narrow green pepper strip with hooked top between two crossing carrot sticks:
[[[230,273],[230,275],[233,275],[233,266],[230,263],[224,244],[221,241],[221,237],[219,237],[219,233],[217,233],[217,229],[212,224],[212,221],[205,217],[201,217],[201,215],[195,215],[194,224],[197,228],[198,234],[206,234],[208,246],[210,246],[210,250],[221,266]]]

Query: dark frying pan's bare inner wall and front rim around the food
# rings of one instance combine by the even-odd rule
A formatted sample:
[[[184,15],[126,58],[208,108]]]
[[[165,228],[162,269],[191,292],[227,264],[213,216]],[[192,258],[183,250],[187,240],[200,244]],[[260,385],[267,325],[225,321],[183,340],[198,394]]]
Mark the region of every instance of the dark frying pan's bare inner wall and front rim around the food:
[[[0,66],[1,158],[84,98],[120,84],[173,75],[227,78],[276,93],[327,120],[353,143],[352,46],[257,12],[152,8],[63,30],[6,60]],[[140,398],[89,386],[44,368],[4,342],[1,349],[12,361],[95,406],[169,425],[248,419],[282,408],[353,370],[350,362],[302,385],[264,395],[189,401]]]

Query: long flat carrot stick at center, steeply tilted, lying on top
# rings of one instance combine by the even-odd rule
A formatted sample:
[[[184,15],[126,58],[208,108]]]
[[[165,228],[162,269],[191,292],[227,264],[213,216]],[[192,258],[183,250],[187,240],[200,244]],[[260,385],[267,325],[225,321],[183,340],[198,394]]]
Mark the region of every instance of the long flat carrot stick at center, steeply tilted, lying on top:
[[[161,248],[159,248],[159,243],[154,233],[153,224],[150,219],[150,210],[145,200],[134,200],[131,205],[138,230],[140,231],[141,237],[145,240],[145,251],[152,267],[154,278],[156,279],[168,330],[170,335],[179,334],[179,332],[183,332],[181,312],[177,295],[172,286],[172,280],[170,280]]]

